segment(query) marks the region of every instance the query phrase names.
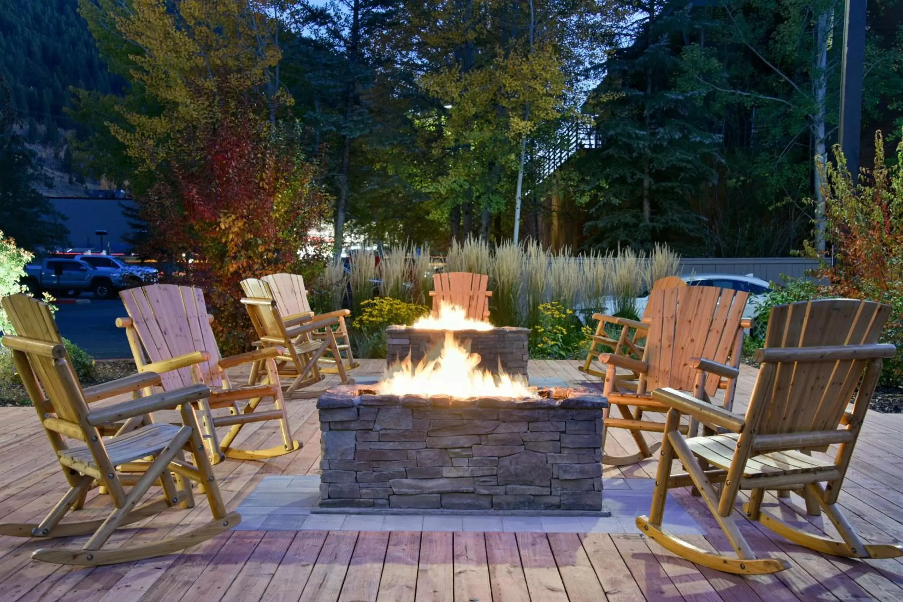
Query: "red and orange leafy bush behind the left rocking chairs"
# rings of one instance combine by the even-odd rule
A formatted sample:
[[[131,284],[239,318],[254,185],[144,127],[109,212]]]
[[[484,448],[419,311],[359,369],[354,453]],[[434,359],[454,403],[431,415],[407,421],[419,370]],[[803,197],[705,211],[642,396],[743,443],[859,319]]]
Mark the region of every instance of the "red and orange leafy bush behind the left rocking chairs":
[[[327,207],[319,167],[295,130],[250,112],[200,130],[188,146],[138,199],[148,226],[140,250],[166,266],[169,282],[204,290],[224,353],[245,350],[252,332],[238,282],[310,273],[308,232]]]

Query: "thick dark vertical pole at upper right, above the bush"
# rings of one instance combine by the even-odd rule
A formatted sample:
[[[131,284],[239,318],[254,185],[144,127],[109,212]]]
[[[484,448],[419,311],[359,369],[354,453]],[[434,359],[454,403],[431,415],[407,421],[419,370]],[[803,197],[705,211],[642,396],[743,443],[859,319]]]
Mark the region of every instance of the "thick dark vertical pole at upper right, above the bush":
[[[855,184],[859,179],[862,77],[865,71],[866,0],[846,0],[841,64],[841,124],[838,143]]]

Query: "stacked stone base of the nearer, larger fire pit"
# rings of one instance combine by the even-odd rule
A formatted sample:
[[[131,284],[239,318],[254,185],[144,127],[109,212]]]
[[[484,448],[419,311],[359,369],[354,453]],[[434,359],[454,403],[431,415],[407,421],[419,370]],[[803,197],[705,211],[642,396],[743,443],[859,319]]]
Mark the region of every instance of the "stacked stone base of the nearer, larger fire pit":
[[[600,510],[604,397],[321,394],[324,507]]]

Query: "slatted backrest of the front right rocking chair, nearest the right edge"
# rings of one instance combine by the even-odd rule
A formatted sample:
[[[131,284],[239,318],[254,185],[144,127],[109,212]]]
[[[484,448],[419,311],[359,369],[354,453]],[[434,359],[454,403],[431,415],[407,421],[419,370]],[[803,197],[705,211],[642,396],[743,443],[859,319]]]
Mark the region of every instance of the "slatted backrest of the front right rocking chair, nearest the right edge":
[[[856,346],[877,343],[890,308],[874,301],[826,299],[771,310],[765,347]],[[768,394],[750,401],[748,416],[760,412],[757,434],[826,431],[837,428],[852,401],[869,359],[769,362],[759,379]],[[758,385],[757,385],[758,388]],[[754,406],[761,406],[757,409]]]

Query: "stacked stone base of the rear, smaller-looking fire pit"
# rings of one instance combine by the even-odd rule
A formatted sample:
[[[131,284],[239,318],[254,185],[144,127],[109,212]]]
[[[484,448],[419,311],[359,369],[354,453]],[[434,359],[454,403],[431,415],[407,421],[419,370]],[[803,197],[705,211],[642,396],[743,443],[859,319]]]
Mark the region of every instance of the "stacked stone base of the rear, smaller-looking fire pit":
[[[526,376],[528,355],[527,337],[529,329],[504,327],[491,330],[454,330],[454,337],[470,353],[479,354],[479,367],[493,374],[498,366],[509,375]],[[431,349],[442,345],[444,330],[420,330],[410,326],[390,326],[386,329],[389,366],[405,359],[408,354],[414,365],[420,362]]]

